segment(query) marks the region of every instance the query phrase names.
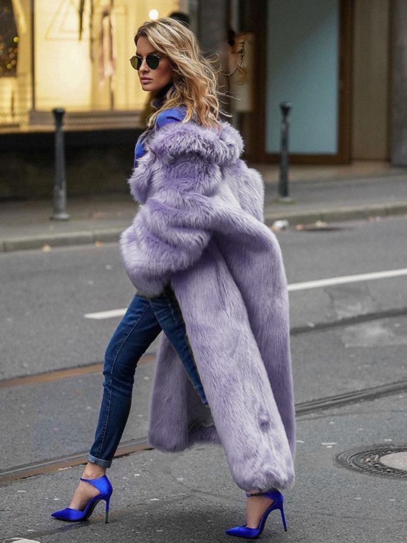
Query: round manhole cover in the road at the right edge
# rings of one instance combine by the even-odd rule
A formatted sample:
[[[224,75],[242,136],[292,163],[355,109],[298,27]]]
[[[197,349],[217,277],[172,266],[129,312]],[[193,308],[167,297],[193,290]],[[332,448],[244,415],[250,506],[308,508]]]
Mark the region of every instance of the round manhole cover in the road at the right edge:
[[[373,445],[369,449],[364,446],[341,452],[335,460],[342,468],[361,471],[368,475],[407,479],[406,452],[407,444]]]

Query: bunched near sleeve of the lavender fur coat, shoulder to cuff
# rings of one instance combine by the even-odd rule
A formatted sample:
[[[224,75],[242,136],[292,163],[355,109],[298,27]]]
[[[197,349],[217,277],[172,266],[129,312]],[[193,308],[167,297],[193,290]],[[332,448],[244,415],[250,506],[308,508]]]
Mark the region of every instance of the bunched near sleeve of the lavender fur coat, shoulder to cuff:
[[[221,182],[211,149],[217,145],[217,154],[227,153],[212,132],[193,138],[190,127],[177,124],[174,138],[171,128],[157,131],[133,170],[130,192],[141,206],[120,237],[126,273],[149,297],[160,294],[171,275],[193,266],[207,246]]]

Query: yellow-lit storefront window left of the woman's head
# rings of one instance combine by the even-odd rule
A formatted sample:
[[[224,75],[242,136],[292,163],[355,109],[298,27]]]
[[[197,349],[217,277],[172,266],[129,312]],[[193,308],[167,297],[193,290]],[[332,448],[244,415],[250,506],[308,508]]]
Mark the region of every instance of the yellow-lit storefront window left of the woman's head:
[[[176,0],[0,0],[0,130],[53,130],[56,107],[67,128],[136,127],[146,94],[130,67],[133,36],[179,8]]]

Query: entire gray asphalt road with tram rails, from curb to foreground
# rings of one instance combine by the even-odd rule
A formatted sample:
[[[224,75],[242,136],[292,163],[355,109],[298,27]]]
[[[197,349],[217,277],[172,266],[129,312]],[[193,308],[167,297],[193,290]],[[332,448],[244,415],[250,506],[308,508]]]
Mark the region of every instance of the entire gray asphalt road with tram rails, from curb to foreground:
[[[349,278],[407,268],[407,219],[336,224],[338,230],[277,233],[291,288],[295,400],[308,411],[298,409],[297,479],[285,493],[288,532],[272,513],[262,537],[312,543],[405,541],[405,479],[355,473],[338,466],[335,457],[357,446],[407,441],[407,384],[405,394],[390,389],[339,406],[328,400],[322,410],[313,402],[407,380],[407,276]],[[4,472],[90,447],[100,372],[31,384],[4,380],[103,362],[120,317],[84,315],[124,309],[134,289],[117,244],[4,253],[0,269]],[[348,282],[306,286],[333,277],[348,277]],[[158,340],[148,353],[154,355]],[[147,435],[154,369],[154,358],[139,363],[122,442]],[[181,454],[147,450],[115,459],[108,472],[115,488],[109,525],[103,523],[100,504],[84,523],[49,516],[67,507],[81,470],[77,465],[4,483],[0,541],[226,541],[224,529],[244,523],[244,494],[215,446]]]

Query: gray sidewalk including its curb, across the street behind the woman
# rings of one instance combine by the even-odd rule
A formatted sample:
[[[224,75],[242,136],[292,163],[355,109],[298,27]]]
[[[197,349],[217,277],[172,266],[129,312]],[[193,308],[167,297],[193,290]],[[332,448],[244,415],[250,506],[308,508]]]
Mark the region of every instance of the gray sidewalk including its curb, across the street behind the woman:
[[[258,168],[260,170],[260,167]],[[275,175],[265,179],[265,222],[287,219],[290,225],[407,214],[407,170],[377,177],[296,179],[291,204],[276,202]],[[0,203],[0,252],[115,242],[130,225],[137,205],[130,194],[68,198],[67,221],[50,220],[52,201]]]

